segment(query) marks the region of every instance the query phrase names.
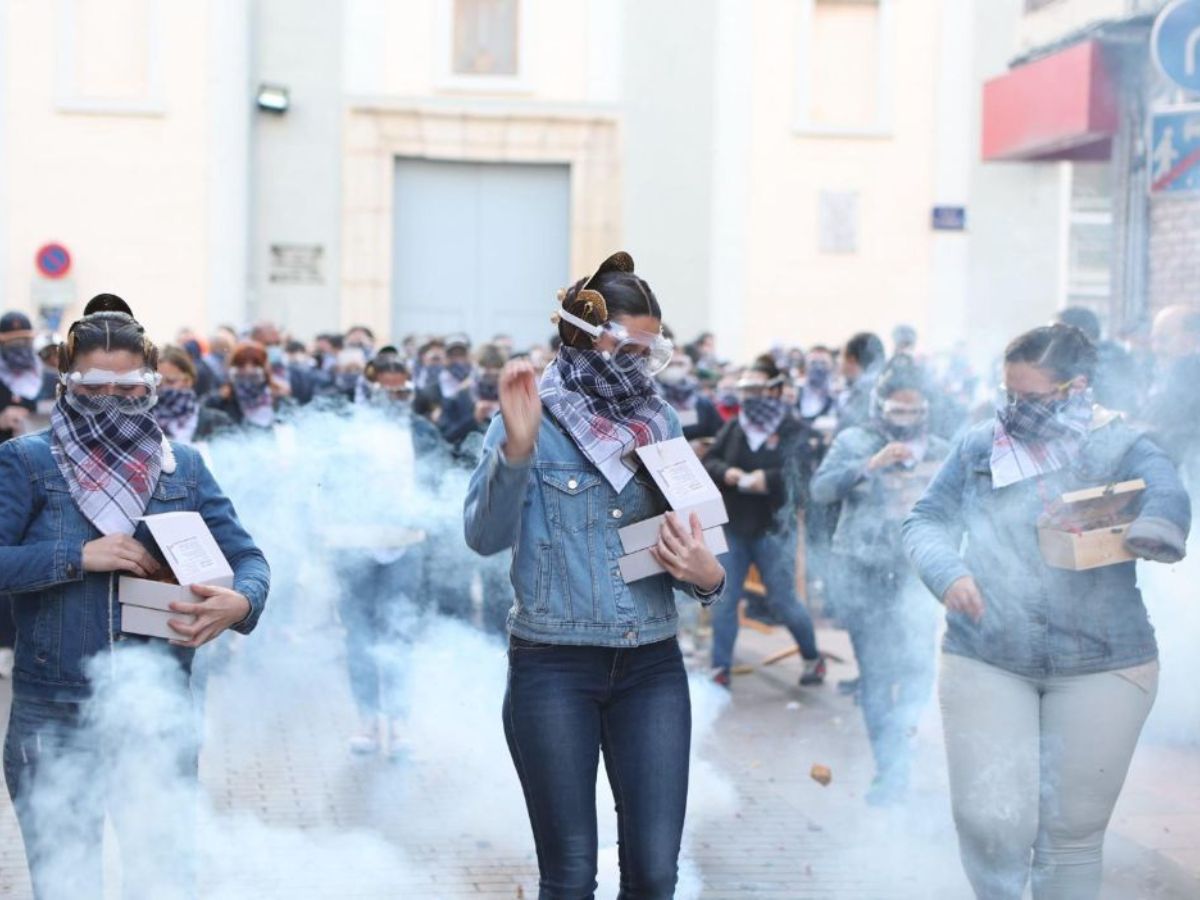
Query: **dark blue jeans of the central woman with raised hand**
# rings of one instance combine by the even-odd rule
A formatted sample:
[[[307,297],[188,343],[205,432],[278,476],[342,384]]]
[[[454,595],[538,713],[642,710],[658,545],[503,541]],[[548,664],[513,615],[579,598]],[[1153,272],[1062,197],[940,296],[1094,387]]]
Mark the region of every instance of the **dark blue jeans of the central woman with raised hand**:
[[[674,638],[632,649],[509,642],[504,734],[538,847],[541,900],[596,889],[596,769],[617,805],[620,900],[674,895],[691,701]]]

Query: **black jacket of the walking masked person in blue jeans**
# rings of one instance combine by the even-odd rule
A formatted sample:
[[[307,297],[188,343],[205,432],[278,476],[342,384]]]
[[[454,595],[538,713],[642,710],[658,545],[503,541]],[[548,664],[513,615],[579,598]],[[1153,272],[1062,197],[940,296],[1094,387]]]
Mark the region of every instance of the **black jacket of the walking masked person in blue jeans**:
[[[775,434],[758,450],[751,450],[737,419],[716,434],[704,455],[704,468],[721,488],[730,512],[730,530],[743,538],[793,528],[796,511],[804,505],[808,484],[821,458],[821,436],[804,422],[787,416]],[[725,484],[731,468],[751,473],[762,469],[767,493],[743,493]]]

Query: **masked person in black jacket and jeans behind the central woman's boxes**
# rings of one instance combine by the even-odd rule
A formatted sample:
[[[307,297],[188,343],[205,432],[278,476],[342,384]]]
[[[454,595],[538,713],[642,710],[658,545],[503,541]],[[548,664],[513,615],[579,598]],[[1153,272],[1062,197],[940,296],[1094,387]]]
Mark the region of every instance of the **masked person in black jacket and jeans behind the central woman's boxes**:
[[[760,356],[738,382],[738,416],[721,428],[704,455],[704,468],[721,488],[730,514],[730,601],[713,613],[713,680],[728,688],[738,638],[738,600],[750,566],[767,588],[767,606],[800,649],[800,684],[824,682],[812,619],[796,595],[797,516],[812,474],[820,440],[791,415],[782,398],[784,374]]]

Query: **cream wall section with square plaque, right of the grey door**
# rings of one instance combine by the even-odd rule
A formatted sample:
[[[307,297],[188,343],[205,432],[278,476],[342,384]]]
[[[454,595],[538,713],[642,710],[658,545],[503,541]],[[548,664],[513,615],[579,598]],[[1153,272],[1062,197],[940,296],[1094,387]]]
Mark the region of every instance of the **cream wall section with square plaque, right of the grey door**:
[[[882,6],[884,49],[878,68],[863,73],[865,84],[806,88],[805,2],[752,6],[740,358],[778,342],[841,343],[863,329],[888,337],[899,322],[928,328],[941,4]],[[811,109],[853,112],[876,78],[877,121],[860,133],[805,126],[804,90]],[[857,216],[846,211],[856,205]],[[857,224],[842,222],[853,247],[830,248],[838,235],[823,230],[856,217]]]

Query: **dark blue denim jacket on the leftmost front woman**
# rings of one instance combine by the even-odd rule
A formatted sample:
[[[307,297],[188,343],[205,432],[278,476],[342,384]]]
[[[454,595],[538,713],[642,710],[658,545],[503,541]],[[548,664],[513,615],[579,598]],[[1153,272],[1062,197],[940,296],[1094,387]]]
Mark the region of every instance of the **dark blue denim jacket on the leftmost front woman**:
[[[182,444],[170,449],[174,470],[164,464],[145,515],[190,510],[204,517],[234,571],[234,590],[250,601],[250,614],[234,626],[248,634],[266,602],[266,559],[199,454]],[[101,536],[71,499],[49,431],[0,445],[0,593],[12,596],[17,620],[14,692],[80,702],[91,656],[113,642],[149,640],[121,634],[119,574],[83,569],[83,545]],[[152,546],[144,524],[133,536]],[[170,652],[191,666],[193,650]]]

